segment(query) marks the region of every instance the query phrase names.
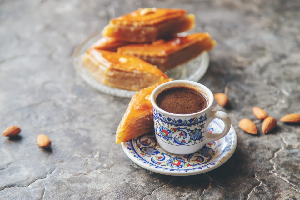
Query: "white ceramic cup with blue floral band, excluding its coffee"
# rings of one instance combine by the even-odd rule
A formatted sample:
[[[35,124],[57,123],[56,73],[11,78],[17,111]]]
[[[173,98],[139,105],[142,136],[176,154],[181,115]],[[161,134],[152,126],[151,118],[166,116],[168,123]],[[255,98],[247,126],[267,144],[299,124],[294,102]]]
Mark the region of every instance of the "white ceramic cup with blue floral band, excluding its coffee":
[[[205,109],[192,114],[174,114],[164,111],[156,104],[159,93],[167,88],[188,87],[204,93],[208,100]],[[170,81],[159,85],[150,97],[153,105],[155,136],[159,146],[174,154],[190,154],[201,149],[206,143],[223,138],[231,128],[230,117],[222,111],[213,111],[213,94],[204,85],[194,81]],[[213,119],[219,118],[224,130],[219,134],[207,132],[207,126]]]

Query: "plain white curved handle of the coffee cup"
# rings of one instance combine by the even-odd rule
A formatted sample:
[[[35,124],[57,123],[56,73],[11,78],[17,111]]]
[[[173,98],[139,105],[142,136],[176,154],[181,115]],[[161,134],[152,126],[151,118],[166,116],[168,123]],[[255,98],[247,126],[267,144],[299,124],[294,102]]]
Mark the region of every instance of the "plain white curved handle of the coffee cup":
[[[213,142],[213,141],[216,141],[218,139],[221,139],[223,138],[225,135],[227,135],[227,133],[229,132],[230,128],[231,128],[231,119],[229,117],[229,115],[227,115],[227,113],[223,112],[223,111],[215,111],[215,110],[212,110],[210,112],[210,114],[208,115],[207,117],[207,122],[205,123],[205,143],[209,143],[209,142]],[[212,133],[208,133],[207,132],[207,127],[208,125],[212,122],[212,120],[214,119],[221,119],[224,124],[225,124],[225,127],[224,127],[224,130],[219,133],[219,134],[212,134]]]

